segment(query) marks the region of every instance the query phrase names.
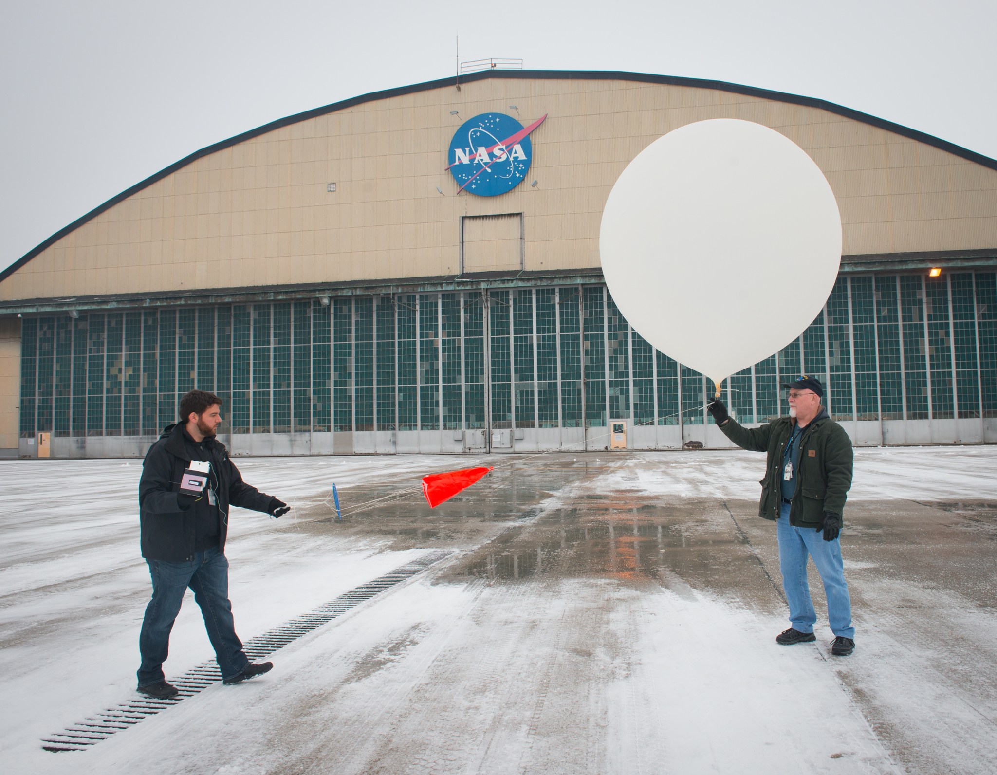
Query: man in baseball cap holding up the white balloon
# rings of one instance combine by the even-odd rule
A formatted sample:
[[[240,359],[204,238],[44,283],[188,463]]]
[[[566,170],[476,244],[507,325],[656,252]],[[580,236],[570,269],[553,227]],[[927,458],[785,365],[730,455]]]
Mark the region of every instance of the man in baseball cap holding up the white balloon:
[[[739,425],[719,399],[707,409],[739,447],[768,453],[759,515],[776,521],[779,567],[792,624],[776,636],[776,642],[792,645],[817,639],[817,613],[807,581],[811,557],[828,595],[828,621],[834,633],[831,653],[846,656],[854,650],[855,630],[837,537],[851,487],[851,440],[822,405],[820,380],[803,375],[783,387],[790,391],[790,416],[760,428]]]

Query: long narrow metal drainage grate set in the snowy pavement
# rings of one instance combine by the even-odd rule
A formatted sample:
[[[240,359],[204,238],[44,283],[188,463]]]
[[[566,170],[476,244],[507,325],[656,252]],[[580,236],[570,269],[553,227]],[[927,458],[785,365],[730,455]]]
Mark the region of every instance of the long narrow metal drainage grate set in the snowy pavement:
[[[430,566],[454,554],[448,550],[427,552],[418,560],[396,568],[374,581],[368,581],[348,592],[340,594],[333,600],[319,605],[317,608],[297,616],[286,624],[274,627],[262,635],[250,638],[243,644],[243,650],[250,660],[269,656],[278,648],[287,645],[302,635],[311,632],[328,623],[340,614],[345,613],[376,594],[389,589],[395,584],[411,579],[421,574]],[[103,710],[77,724],[71,724],[62,732],[42,738],[42,748],[46,751],[83,751],[92,745],[106,740],[115,732],[128,729],[145,718],[155,716],[170,705],[175,705],[184,697],[190,697],[201,689],[221,680],[221,671],[212,659],[187,670],[178,678],[170,681],[179,693],[170,699],[152,699],[143,697],[129,700],[120,705]]]

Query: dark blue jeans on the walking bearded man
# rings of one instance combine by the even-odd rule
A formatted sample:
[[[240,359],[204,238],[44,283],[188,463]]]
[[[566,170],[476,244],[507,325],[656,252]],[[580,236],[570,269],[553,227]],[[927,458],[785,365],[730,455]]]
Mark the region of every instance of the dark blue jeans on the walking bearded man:
[[[228,601],[228,561],[221,551],[213,547],[197,552],[188,563],[146,562],[153,578],[153,599],[146,606],[139,635],[142,653],[139,685],[148,686],[164,680],[163,663],[169,652],[169,632],[188,586],[204,617],[204,628],[214,647],[221,677],[231,678],[242,672],[249,660],[242,651],[242,641],[235,634],[232,604]]]

